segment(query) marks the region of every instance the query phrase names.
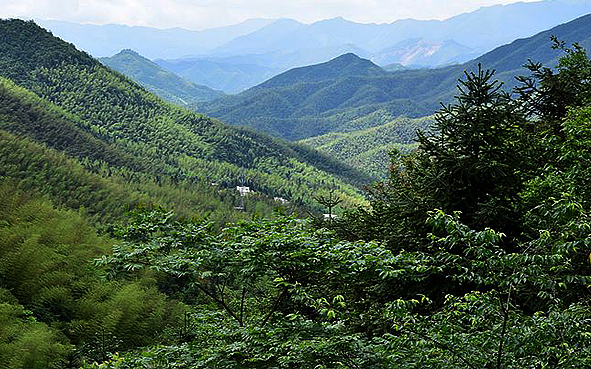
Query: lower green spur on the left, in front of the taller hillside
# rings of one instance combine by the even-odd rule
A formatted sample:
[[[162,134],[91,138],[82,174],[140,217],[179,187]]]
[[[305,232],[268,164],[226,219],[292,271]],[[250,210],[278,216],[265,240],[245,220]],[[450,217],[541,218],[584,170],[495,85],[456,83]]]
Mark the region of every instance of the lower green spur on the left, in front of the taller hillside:
[[[233,189],[154,173],[139,158],[78,128],[80,119],[1,77],[0,101],[0,175],[18,180],[24,190],[67,208],[84,207],[101,221],[147,202],[185,216],[210,213],[220,223],[246,215],[234,209],[240,199]],[[275,207],[260,196],[250,200],[249,213]]]

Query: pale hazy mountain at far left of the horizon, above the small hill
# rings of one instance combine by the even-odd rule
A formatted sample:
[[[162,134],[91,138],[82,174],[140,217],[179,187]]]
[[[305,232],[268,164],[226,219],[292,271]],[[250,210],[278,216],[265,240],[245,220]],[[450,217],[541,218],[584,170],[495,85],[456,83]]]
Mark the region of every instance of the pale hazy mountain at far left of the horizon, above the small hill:
[[[212,49],[264,27],[273,20],[249,19],[236,25],[202,31],[130,27],[119,24],[78,24],[42,19],[36,22],[55,36],[73,43],[95,57],[111,56],[120,50],[132,49],[149,59],[156,59],[207,54]]]

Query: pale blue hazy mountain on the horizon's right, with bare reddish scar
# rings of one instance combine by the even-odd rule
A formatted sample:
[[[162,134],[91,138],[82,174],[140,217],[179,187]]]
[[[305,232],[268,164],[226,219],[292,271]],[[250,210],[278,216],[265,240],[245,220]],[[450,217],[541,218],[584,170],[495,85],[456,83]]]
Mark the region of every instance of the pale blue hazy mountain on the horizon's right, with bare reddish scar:
[[[582,0],[546,0],[514,3],[481,8],[443,21],[398,20],[385,24],[361,24],[343,18],[327,19],[313,24],[301,24],[282,19],[250,34],[229,41],[212,54],[220,56],[268,54],[314,50],[353,44],[370,55],[374,61],[384,59],[388,51],[400,42],[415,43],[456,42],[462,45],[450,58],[420,58],[413,64],[436,66],[452,61],[468,60],[496,46],[517,38],[528,37],[591,12],[591,2]],[[289,40],[289,42],[286,42]],[[420,47],[417,46],[417,47]],[[462,50],[460,50],[462,49]],[[455,55],[460,54],[463,56]],[[466,56],[467,55],[467,56]],[[335,57],[337,55],[333,55]],[[427,54],[426,56],[429,56]],[[322,61],[321,59],[316,62]],[[404,63],[404,58],[389,58],[385,64]],[[433,64],[439,63],[439,64]]]

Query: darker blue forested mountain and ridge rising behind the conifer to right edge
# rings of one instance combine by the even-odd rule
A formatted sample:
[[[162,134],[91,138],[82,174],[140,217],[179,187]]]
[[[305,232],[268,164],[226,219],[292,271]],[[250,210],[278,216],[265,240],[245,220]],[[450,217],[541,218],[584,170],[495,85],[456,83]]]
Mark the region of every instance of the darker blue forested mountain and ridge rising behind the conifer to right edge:
[[[515,85],[514,76],[527,73],[522,66],[528,60],[555,64],[560,52],[551,48],[550,36],[590,48],[591,15],[516,40],[470,62],[439,69],[386,72],[368,60],[343,55],[206,104],[205,112],[292,140],[341,131],[349,122],[376,111],[393,117],[426,116],[440,102],[451,101],[458,78],[479,63],[495,69],[508,90]]]

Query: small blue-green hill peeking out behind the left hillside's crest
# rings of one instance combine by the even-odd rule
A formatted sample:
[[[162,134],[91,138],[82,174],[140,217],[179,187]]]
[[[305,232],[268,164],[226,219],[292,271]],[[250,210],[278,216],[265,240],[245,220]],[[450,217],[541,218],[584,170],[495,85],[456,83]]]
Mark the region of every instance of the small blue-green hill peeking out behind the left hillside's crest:
[[[122,50],[111,57],[100,58],[99,61],[177,105],[195,104],[224,96],[221,91],[182,79],[133,50]]]

